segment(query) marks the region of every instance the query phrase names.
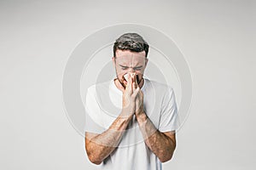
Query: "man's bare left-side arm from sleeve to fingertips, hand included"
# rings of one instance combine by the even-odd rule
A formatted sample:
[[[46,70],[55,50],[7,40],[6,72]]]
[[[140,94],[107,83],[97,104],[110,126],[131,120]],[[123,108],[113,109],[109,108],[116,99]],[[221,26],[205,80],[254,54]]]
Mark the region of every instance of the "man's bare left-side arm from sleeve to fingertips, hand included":
[[[101,134],[85,133],[85,149],[91,162],[100,164],[118,146],[126,127],[136,111],[136,98],[139,88],[133,88],[133,78],[128,76],[126,88],[123,92],[123,109],[108,130]]]

